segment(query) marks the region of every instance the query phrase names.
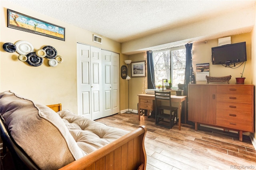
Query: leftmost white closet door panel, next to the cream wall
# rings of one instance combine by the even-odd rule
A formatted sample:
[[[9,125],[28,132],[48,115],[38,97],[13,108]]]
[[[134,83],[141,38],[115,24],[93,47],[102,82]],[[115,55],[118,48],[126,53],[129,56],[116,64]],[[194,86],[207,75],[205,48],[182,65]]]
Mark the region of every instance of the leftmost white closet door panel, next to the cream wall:
[[[92,119],[90,46],[77,43],[77,98],[78,115]]]

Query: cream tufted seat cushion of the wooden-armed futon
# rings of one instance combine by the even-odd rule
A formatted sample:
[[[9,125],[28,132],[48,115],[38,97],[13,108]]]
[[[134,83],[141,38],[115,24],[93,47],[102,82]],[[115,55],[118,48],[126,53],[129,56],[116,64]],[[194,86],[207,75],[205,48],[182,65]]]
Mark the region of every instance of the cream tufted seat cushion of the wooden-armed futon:
[[[75,115],[69,110],[57,113],[63,119],[78,146],[87,154],[128,133],[126,130],[109,127],[103,123]]]

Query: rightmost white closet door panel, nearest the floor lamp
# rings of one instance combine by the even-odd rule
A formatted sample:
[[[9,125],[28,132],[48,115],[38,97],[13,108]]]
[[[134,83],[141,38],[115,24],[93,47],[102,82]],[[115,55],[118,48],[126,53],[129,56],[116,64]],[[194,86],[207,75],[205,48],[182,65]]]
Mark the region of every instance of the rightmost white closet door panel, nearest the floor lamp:
[[[112,52],[112,114],[120,112],[119,54]]]

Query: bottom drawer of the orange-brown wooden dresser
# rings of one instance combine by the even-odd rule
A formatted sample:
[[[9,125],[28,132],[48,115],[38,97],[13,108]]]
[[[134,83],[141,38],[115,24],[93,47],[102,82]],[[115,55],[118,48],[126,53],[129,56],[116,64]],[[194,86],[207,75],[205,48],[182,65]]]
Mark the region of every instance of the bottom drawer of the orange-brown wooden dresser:
[[[225,128],[231,128],[236,130],[243,130],[246,132],[253,132],[252,119],[242,120],[238,117],[232,117],[229,115],[223,115],[223,117],[217,117],[216,125]]]

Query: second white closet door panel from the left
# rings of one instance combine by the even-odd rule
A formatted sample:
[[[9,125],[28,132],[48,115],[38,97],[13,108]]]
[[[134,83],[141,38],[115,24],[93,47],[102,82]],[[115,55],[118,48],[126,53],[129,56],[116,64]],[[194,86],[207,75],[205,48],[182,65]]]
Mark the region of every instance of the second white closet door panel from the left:
[[[102,117],[102,65],[101,49],[91,47],[92,120]]]

